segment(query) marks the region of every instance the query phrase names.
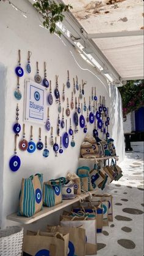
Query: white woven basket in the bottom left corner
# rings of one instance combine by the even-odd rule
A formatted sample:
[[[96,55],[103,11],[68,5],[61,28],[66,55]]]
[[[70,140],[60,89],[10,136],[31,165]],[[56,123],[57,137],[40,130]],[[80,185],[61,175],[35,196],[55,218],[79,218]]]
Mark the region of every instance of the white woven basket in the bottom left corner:
[[[0,255],[21,256],[23,247],[23,227],[9,227],[0,230]]]

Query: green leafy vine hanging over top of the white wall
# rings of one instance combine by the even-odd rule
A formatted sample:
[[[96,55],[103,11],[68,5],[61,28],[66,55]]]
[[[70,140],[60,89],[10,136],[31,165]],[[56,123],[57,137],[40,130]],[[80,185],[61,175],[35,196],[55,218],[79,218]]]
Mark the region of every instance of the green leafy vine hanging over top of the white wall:
[[[33,6],[43,15],[43,26],[49,29],[51,34],[56,33],[60,36],[62,33],[57,29],[56,23],[62,22],[65,18],[63,12],[67,12],[73,7],[70,4],[56,4],[50,0],[37,0]]]

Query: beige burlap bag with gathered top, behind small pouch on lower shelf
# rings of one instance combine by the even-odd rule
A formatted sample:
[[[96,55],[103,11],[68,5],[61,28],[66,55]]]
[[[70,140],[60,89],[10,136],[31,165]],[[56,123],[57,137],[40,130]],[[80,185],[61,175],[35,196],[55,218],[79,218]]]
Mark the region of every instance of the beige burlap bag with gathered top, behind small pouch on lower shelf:
[[[73,181],[74,194],[81,195],[81,180],[79,176],[76,173],[68,173],[66,178],[67,180]]]

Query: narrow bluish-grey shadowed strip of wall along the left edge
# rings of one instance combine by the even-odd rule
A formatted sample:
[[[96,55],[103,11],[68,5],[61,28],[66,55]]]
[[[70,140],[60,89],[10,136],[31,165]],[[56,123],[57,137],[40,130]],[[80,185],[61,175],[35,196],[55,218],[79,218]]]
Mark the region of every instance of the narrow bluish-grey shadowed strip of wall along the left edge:
[[[0,63],[0,228],[2,223],[2,200],[3,200],[3,169],[4,169],[4,125],[5,125],[5,77],[6,69]]]

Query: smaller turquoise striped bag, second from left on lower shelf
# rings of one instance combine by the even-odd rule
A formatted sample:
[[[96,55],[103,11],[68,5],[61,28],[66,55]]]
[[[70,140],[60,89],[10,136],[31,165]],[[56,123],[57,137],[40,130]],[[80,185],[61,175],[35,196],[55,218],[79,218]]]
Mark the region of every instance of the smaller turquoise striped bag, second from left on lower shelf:
[[[62,185],[67,182],[65,177],[52,179],[43,184],[43,205],[52,207],[62,203]]]

